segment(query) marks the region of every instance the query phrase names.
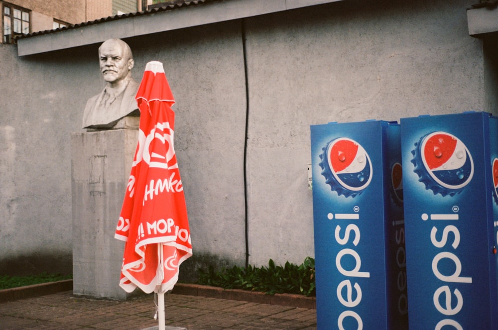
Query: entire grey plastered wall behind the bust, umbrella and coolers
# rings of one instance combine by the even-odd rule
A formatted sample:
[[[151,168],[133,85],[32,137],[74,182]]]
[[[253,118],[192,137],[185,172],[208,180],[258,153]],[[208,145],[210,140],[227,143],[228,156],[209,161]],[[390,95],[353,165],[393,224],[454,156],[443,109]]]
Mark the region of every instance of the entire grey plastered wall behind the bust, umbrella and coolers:
[[[244,21],[249,263],[301,263],[314,254],[310,124],[497,111],[486,102],[482,42],[467,31],[471,4],[345,0]],[[245,261],[242,26],[126,40],[135,79],[159,60],[176,98],[191,265]],[[69,140],[103,86],[97,47],[18,58],[14,46],[0,45],[2,271],[21,255],[70,258]]]

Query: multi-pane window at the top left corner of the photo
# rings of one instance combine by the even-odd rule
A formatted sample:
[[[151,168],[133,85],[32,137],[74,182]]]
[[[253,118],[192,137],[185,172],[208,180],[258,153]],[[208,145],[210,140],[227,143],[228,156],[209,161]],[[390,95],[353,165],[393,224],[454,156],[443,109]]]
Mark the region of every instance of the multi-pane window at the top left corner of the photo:
[[[3,43],[14,43],[13,37],[15,35],[28,34],[30,32],[30,22],[29,10],[10,3],[3,3]]]

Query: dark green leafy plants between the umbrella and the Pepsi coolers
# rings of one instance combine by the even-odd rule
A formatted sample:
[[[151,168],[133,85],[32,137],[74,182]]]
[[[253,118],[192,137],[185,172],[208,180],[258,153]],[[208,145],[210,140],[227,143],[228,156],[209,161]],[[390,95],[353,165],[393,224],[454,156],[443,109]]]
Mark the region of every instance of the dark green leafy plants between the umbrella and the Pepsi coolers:
[[[315,259],[311,257],[306,257],[301,265],[287,261],[284,266],[275,266],[270,259],[267,267],[233,266],[215,271],[213,266],[209,266],[208,271],[198,269],[198,272],[197,284],[260,291],[270,295],[291,293],[315,296]]]

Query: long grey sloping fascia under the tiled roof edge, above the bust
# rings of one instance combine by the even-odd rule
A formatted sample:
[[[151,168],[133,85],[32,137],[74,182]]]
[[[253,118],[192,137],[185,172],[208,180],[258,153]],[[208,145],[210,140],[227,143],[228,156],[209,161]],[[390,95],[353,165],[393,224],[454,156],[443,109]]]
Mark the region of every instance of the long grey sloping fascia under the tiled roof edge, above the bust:
[[[101,43],[217,22],[291,10],[340,0],[221,0],[173,10],[109,17],[95,24],[47,31],[17,40],[19,56]]]

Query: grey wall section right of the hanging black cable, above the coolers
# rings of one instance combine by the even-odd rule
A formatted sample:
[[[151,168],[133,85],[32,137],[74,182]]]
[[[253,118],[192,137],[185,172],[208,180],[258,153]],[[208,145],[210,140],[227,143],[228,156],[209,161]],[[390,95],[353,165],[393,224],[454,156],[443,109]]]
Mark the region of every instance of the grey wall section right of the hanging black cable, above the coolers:
[[[485,109],[470,4],[347,0],[248,20],[251,262],[313,255],[309,125]]]

